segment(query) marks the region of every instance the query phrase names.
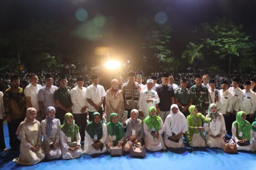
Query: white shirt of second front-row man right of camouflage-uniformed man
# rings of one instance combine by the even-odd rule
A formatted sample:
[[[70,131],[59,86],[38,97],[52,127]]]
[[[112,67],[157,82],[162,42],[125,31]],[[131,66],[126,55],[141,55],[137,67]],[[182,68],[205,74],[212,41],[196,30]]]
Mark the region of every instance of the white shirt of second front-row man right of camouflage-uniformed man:
[[[228,90],[226,90],[225,92],[223,92],[223,90],[219,90],[219,94],[221,97],[219,113],[226,114],[226,112],[231,112],[233,103],[232,94]]]

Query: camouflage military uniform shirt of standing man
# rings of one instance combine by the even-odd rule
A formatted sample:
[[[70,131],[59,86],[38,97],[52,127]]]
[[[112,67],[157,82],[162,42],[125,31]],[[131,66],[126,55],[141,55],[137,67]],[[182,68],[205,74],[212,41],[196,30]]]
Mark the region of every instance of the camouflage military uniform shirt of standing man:
[[[203,109],[208,110],[208,88],[203,85],[199,87],[193,85],[190,89],[193,93],[193,105],[197,106],[198,113],[202,113]]]

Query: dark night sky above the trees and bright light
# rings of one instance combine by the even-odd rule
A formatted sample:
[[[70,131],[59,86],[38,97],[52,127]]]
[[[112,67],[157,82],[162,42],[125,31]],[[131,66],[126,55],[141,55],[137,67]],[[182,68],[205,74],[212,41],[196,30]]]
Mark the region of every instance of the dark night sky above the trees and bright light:
[[[80,21],[76,16],[79,9]],[[31,19],[55,21],[68,29],[70,36],[84,39],[87,48],[113,46],[125,52],[141,41],[142,32],[162,12],[161,22],[172,29],[171,50],[181,52],[191,30],[216,17],[225,16],[235,25],[243,25],[246,35],[256,40],[255,9],[256,0],[2,0],[0,30],[3,34],[28,29]],[[92,22],[99,25],[90,27]],[[91,39],[89,34],[97,36]]]

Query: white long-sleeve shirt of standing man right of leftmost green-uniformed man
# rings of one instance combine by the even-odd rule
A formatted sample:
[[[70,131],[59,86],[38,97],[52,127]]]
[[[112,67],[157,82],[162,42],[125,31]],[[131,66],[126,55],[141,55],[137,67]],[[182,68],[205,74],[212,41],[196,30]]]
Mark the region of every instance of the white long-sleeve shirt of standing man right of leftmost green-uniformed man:
[[[88,107],[85,87],[82,87],[82,90],[78,86],[73,88],[70,93],[70,98],[71,102],[73,103],[72,113],[82,113],[80,110],[85,106]],[[86,108],[85,113],[86,112],[88,112],[88,108]]]

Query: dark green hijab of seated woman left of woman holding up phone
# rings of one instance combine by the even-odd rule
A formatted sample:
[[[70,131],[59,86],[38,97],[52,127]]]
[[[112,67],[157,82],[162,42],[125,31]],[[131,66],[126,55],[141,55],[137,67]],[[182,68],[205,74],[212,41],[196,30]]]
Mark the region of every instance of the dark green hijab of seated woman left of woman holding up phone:
[[[117,120],[118,120],[117,113],[111,113],[110,114],[110,122],[107,123],[107,132],[110,136],[113,136],[113,135],[117,136],[117,139],[113,140],[113,145],[116,146],[117,141],[119,141],[120,139],[122,139],[124,137],[124,130],[123,130],[123,127],[122,127],[122,123],[117,121],[117,123],[114,124],[112,122],[113,116],[116,116]]]

